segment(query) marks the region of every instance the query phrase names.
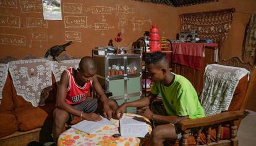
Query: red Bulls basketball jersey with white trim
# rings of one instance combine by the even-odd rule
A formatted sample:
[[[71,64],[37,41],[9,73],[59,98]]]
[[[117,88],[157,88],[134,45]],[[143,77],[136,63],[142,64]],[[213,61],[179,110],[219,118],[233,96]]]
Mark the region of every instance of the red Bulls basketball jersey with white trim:
[[[67,75],[69,76],[69,86],[67,87],[66,102],[70,105],[83,102],[86,99],[88,92],[90,92],[92,80],[85,83],[83,87],[81,87],[75,83],[72,68],[69,68],[65,71],[67,71]]]

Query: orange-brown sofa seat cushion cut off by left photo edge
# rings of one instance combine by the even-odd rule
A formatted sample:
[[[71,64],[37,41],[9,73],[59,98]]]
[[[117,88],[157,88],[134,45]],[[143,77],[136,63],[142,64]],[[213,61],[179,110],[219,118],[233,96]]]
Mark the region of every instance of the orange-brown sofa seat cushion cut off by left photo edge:
[[[1,112],[0,120],[0,138],[18,130],[18,121],[12,112]]]

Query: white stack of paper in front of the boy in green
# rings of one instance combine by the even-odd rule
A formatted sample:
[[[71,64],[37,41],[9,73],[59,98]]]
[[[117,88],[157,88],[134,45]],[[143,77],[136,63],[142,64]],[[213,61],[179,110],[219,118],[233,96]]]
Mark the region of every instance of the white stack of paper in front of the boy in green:
[[[134,118],[122,118],[120,127],[122,137],[145,137],[148,133],[148,124]]]

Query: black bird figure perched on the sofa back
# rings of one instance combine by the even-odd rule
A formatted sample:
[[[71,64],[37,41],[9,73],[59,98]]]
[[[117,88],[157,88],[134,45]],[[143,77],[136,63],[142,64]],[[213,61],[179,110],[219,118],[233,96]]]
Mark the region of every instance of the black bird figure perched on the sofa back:
[[[72,41],[69,41],[66,44],[62,44],[62,45],[56,45],[51,47],[45,54],[45,58],[48,57],[48,55],[51,55],[53,57],[54,61],[56,60],[56,57],[59,56],[59,54],[61,54],[61,52],[66,51],[66,47],[69,46],[70,44],[74,44]]]

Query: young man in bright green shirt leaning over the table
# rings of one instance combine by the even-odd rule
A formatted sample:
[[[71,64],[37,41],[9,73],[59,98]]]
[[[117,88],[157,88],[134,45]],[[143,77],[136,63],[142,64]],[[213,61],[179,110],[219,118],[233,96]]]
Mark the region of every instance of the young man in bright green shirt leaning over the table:
[[[162,52],[148,54],[148,76],[154,82],[147,97],[134,102],[123,103],[116,110],[116,116],[121,118],[126,107],[142,107],[139,114],[150,120],[161,123],[151,132],[151,144],[163,145],[164,139],[180,139],[180,131],[175,124],[184,119],[200,118],[205,116],[192,84],[181,75],[169,71],[169,61]],[[149,105],[161,94],[167,115],[156,115],[151,112]],[[143,108],[144,107],[144,108]]]

